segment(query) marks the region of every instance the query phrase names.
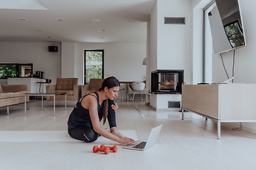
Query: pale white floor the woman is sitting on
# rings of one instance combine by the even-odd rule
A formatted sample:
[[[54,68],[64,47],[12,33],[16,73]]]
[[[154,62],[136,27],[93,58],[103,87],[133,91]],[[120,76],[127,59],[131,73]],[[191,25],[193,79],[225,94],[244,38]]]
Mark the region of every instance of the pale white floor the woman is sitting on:
[[[73,140],[66,132],[75,105],[56,102],[41,111],[41,101],[0,108],[0,169],[256,169],[256,135],[216,123],[193,113],[153,111],[139,101],[119,101],[117,128],[129,137],[146,140],[151,128],[163,124],[156,145],[144,152],[122,149],[122,145],[100,137],[96,142]],[[107,128],[107,125],[104,125]],[[93,153],[95,145],[117,145],[116,153]]]

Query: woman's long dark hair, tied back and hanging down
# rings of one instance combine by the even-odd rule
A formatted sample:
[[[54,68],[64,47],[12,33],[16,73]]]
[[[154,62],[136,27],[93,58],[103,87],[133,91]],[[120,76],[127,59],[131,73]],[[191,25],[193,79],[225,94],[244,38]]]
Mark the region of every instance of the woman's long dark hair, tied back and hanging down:
[[[102,87],[99,89],[99,91],[104,90],[105,87],[107,87],[107,89],[111,89],[115,86],[120,86],[118,79],[116,79],[115,77],[107,77],[107,79],[105,79],[102,82]],[[104,125],[106,123],[107,115],[108,115],[108,99],[102,102],[102,107],[103,107],[102,114],[103,114],[103,125]]]

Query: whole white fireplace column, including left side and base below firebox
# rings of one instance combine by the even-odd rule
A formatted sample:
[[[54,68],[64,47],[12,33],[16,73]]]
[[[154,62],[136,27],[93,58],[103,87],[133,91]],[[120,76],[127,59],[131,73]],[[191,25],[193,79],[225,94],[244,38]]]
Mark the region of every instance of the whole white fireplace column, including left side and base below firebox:
[[[151,12],[151,72],[156,69],[184,69],[184,81],[187,84],[191,83],[190,16],[190,0],[156,1]],[[186,17],[186,24],[164,24],[164,17]],[[150,95],[150,105],[156,110],[167,109],[168,101],[171,101],[169,96]]]

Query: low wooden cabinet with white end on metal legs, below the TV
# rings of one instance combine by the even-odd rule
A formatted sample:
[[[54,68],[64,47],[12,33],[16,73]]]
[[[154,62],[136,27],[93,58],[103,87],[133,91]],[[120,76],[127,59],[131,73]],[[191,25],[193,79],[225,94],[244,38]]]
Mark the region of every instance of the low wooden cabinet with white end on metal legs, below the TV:
[[[220,123],[256,122],[256,84],[184,84],[182,111],[188,110]],[[183,112],[182,112],[183,119]]]

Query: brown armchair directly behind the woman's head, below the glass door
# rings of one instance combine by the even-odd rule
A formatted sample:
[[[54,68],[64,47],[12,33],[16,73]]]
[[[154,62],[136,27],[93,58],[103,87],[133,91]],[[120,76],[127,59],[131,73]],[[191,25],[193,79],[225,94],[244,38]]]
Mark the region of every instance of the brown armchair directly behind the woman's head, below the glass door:
[[[90,94],[93,91],[99,90],[104,80],[105,79],[90,79],[89,85],[82,85],[82,96],[85,96],[85,94]]]

